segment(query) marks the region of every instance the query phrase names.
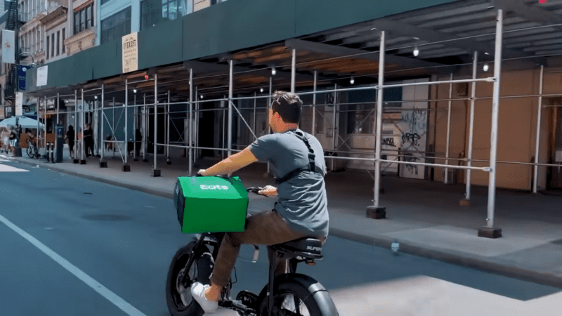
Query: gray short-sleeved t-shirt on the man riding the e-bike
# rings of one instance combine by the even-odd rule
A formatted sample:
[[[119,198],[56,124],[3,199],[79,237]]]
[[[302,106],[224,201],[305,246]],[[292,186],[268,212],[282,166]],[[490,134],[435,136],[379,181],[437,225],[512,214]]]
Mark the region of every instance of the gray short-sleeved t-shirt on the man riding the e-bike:
[[[261,136],[249,146],[252,154],[261,162],[270,162],[275,178],[282,178],[294,169],[308,165],[308,148],[295,135],[294,130]],[[315,154],[316,168],[326,173],[324,150],[320,142],[308,133]],[[278,203],[275,211],[297,232],[315,236],[328,236],[328,209],[324,177],[313,171],[303,171],[277,187]]]

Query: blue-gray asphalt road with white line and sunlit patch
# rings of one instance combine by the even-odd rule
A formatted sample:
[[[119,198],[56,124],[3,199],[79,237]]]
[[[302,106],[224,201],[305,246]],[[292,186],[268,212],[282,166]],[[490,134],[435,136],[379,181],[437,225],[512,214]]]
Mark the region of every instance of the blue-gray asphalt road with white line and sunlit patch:
[[[171,199],[8,160],[0,157],[0,315],[169,315],[166,272],[191,238]],[[323,254],[299,272],[329,289],[340,315],[559,315],[562,305],[560,289],[334,236]],[[266,284],[265,248],[257,263],[251,255],[244,246],[233,294]]]

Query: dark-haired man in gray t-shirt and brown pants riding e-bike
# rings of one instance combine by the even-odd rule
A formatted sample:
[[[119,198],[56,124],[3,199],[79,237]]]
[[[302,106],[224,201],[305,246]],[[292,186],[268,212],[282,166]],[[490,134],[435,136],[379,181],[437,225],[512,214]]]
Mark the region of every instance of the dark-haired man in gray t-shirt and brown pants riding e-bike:
[[[244,232],[224,235],[211,274],[211,286],[192,284],[192,296],[205,312],[218,307],[218,298],[228,284],[241,244],[282,244],[302,237],[325,242],[327,238],[324,151],[314,136],[298,128],[301,107],[302,101],[294,93],[275,92],[269,107],[269,125],[274,133],[198,172],[201,176],[217,176],[233,173],[258,160],[270,162],[277,187],[268,185],[259,193],[279,197],[272,211],[249,216]],[[285,261],[277,264],[276,275],[282,273],[285,273]]]

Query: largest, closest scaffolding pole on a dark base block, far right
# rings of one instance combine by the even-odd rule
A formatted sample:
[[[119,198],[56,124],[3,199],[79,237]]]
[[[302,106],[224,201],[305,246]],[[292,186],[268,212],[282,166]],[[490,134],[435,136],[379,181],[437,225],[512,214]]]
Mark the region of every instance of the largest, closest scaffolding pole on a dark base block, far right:
[[[490,131],[490,183],[488,184],[488,218],[487,225],[478,230],[480,237],[502,237],[502,230],[494,228],[494,211],[496,197],[496,174],[497,174],[497,120],[499,112],[499,87],[502,72],[502,29],[504,14],[503,10],[497,11],[496,21],[496,45],[494,56],[494,92],[492,94],[492,129]]]

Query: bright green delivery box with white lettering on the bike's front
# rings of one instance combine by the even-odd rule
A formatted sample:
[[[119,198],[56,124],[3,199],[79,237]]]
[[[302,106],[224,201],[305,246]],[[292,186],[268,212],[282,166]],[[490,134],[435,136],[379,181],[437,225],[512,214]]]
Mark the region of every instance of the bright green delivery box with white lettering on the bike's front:
[[[174,190],[181,232],[243,232],[248,192],[238,177],[179,177]]]

